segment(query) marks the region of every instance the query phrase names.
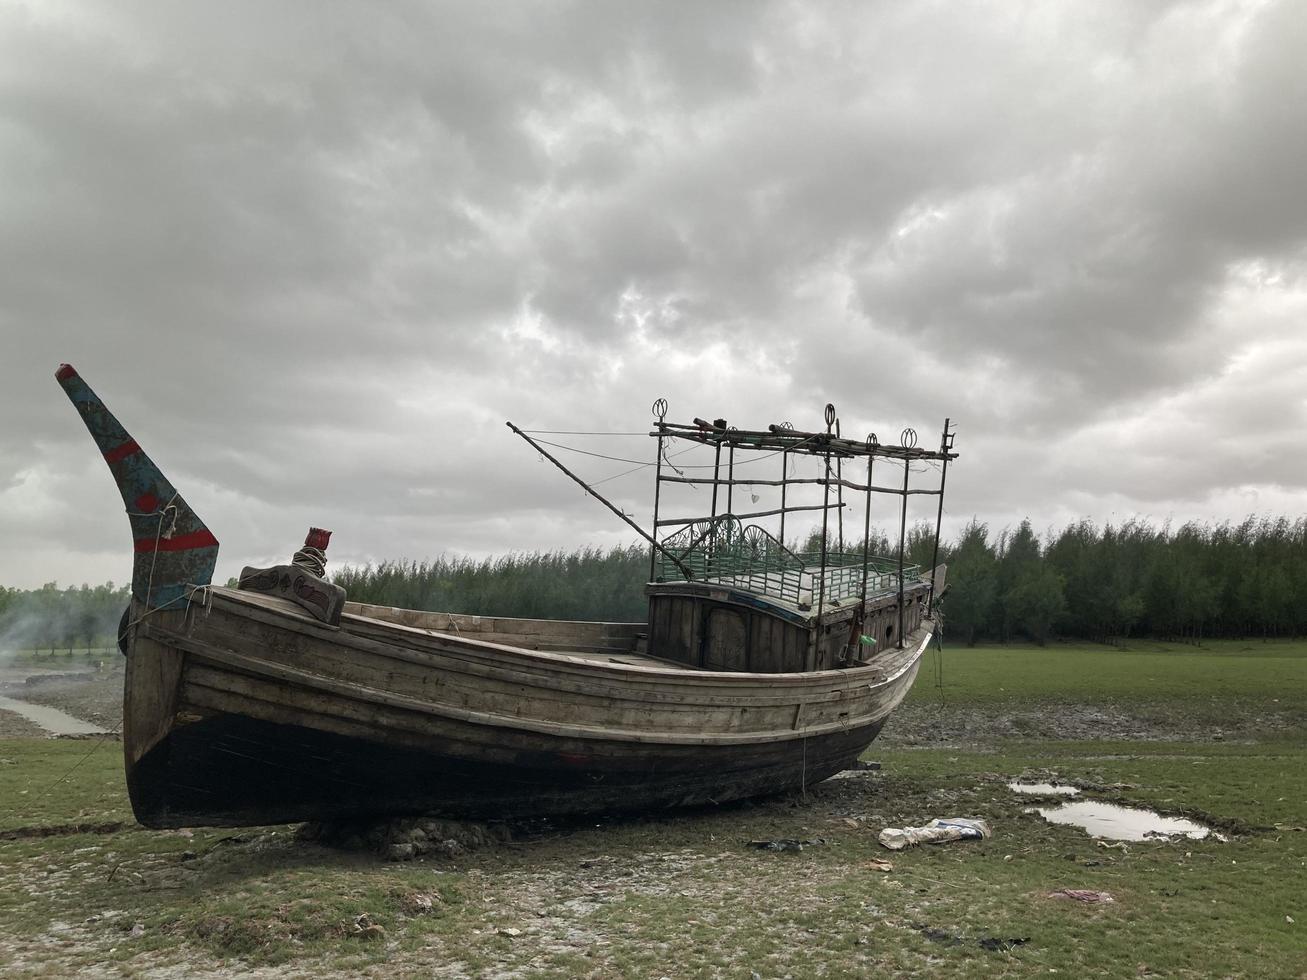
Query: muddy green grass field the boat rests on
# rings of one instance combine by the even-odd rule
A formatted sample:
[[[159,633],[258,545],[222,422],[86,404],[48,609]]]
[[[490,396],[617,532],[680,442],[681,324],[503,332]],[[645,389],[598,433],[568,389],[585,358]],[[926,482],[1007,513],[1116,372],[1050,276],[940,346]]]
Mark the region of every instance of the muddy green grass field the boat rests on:
[[[1307,644],[929,656],[902,730],[868,754],[878,772],[406,864],[290,827],[140,830],[116,743],[0,741],[0,973],[1307,976]],[[1013,717],[1048,730],[1013,734]],[[1005,787],[1023,775],[1230,839],[1103,847],[1027,813]],[[995,835],[876,843],[950,815]],[[780,838],[823,843],[749,847]]]

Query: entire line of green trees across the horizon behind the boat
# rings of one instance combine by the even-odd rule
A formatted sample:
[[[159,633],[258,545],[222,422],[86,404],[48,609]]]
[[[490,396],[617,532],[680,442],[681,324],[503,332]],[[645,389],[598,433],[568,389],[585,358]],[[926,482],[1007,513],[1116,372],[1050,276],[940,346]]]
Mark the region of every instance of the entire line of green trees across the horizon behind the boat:
[[[809,540],[805,551],[817,551]],[[891,554],[897,540],[873,536]],[[933,528],[908,528],[906,561],[927,568]],[[1030,521],[992,534],[971,521],[949,542],[945,636],[967,645],[1055,638],[1307,635],[1307,519],[1239,524],[1077,521],[1040,538]],[[359,602],[473,615],[639,622],[648,549],[442,555],[345,566],[332,575]],[[235,584],[234,581],[229,584]],[[114,643],[127,587],[0,587],[0,649],[68,649]]]

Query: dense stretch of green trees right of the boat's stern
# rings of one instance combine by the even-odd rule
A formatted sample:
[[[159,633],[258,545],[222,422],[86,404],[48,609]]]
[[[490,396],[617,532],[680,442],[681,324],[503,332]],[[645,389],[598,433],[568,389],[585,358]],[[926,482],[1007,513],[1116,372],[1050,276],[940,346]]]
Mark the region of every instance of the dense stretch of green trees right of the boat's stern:
[[[1043,541],[1030,521],[993,540],[972,521],[948,554],[946,631],[967,645],[1307,632],[1307,519],[1085,520]]]

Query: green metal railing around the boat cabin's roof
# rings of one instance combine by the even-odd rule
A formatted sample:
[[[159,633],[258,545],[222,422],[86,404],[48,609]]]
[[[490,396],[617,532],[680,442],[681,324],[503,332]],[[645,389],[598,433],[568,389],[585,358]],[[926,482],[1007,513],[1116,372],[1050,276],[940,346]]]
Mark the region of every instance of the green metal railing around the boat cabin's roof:
[[[689,575],[665,555],[659,555],[657,575],[663,581],[711,581],[759,596],[813,606],[818,593],[825,605],[859,600],[863,596],[863,555],[827,551],[825,571],[819,551],[795,553],[757,525],[742,527],[736,517],[691,524],[663,542],[681,559]],[[915,581],[920,567],[903,567],[904,581]],[[867,559],[867,596],[898,592],[898,561]]]

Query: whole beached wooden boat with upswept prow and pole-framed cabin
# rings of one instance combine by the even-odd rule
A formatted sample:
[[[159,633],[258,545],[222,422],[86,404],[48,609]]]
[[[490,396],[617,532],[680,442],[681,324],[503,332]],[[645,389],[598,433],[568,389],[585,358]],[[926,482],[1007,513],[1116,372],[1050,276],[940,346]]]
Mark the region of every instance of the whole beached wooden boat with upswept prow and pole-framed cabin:
[[[699,500],[711,489],[711,512],[668,517],[655,503],[646,531],[613,508],[650,542],[648,618],[561,622],[350,601],[325,576],[319,529],[288,564],[214,584],[213,532],[73,367],[56,378],[132,527],[123,751],[146,827],[519,819],[801,792],[856,764],[935,630],[942,568],[906,564],[903,533],[910,494],[938,494],[942,514],[948,422],[923,449],[915,435],[843,439],[830,406],[817,431],[737,430],[668,422],[660,400],[656,500],[693,485]],[[714,461],[686,476],[672,444]],[[746,478],[745,456],[774,459],[780,477]],[[799,459],[818,476],[793,476]],[[908,486],[923,461],[937,489]],[[877,464],[889,485],[872,482]],[[742,487],[779,493],[780,507],[740,512]],[[861,547],[842,541],[856,511],[846,493],[867,499]],[[884,494],[903,504],[891,559],[867,549]],[[802,511],[819,511],[817,553],[783,544]]]

